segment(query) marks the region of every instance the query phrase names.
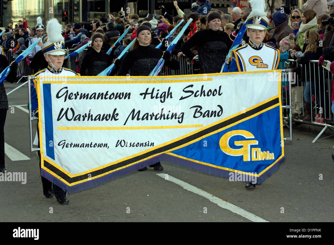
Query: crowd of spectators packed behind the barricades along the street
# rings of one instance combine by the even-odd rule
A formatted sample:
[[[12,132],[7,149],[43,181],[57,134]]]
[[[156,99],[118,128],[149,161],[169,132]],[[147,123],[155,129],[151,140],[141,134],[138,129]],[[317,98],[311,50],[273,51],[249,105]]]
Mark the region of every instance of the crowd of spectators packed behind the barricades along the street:
[[[185,15],[185,13],[179,8],[177,1],[174,1],[174,7],[177,11],[176,16],[171,16],[169,14],[172,12],[172,9],[166,9],[164,6],[160,6],[161,14],[155,14],[153,18],[146,17],[140,19],[137,14],[126,15],[125,12],[121,10],[120,16],[117,17],[108,14],[107,17],[102,17],[89,23],[75,23],[74,26],[68,24],[65,26],[63,32],[65,47],[76,50],[82,45],[87,44],[89,41],[98,40],[99,43],[101,43],[101,47],[98,44],[89,46],[87,55],[92,57],[92,53],[89,53],[93,51],[97,52],[98,46],[99,50],[103,53],[106,53],[107,50],[112,48],[108,58],[106,58],[106,55],[99,55],[99,57],[103,59],[101,62],[105,62],[102,67],[106,67],[110,64],[110,62],[115,61],[123,49],[136,38],[137,29],[140,26],[149,26],[152,33],[151,46],[155,47],[162,42],[163,45],[161,46],[161,49],[165,51],[168,44],[181,31],[186,21],[192,18],[191,24],[171,51],[172,55],[180,57],[183,55],[182,50],[185,50],[182,48],[183,46],[187,46],[186,50],[188,52],[189,40],[192,36],[194,36],[197,32],[204,33],[204,30],[210,29],[207,22],[207,17],[210,13],[219,14],[221,20],[219,22],[219,31],[224,33],[224,35],[227,34],[223,38],[221,36],[219,41],[223,40],[222,42],[225,42],[225,37],[228,37],[228,43],[225,43],[224,45],[226,47],[230,47],[238,31],[241,29],[242,24],[251,12],[251,8],[249,7],[242,9],[236,7],[233,8],[231,13],[223,13],[218,9],[212,8],[211,3],[208,0],[198,0],[192,3],[191,6],[189,6],[190,13],[188,15]],[[276,9],[274,13],[268,15],[269,27],[264,42],[280,50],[281,61],[290,58],[296,60],[297,64],[306,64],[310,60],[320,59],[319,65],[321,65],[321,62],[324,59],[332,62],[334,60],[333,17],[334,0],[307,0],[303,5],[303,9],[291,10],[286,6],[282,6],[281,8]],[[171,34],[168,40],[165,40],[165,36],[174,28],[174,26],[180,23],[181,19],[185,21],[176,29],[174,33]],[[127,31],[129,26],[130,29]],[[127,33],[125,34],[124,39],[118,42],[117,45],[114,45],[120,35],[122,35],[125,31],[127,31]],[[23,19],[23,22],[19,21],[17,28],[13,28],[13,24],[9,23],[6,32],[0,38],[0,45],[2,46],[3,52],[11,50],[11,54],[15,57],[15,55],[19,54],[29,46],[28,40],[34,35],[37,35],[36,28],[30,28],[30,26],[27,25],[26,19]],[[42,35],[45,37],[47,34],[43,33]],[[99,38],[94,38],[94,35],[99,35]],[[198,35],[196,35],[196,37],[198,37]],[[216,36],[213,38],[216,38]],[[312,42],[314,41],[313,43],[310,43],[311,39]],[[246,35],[243,36],[240,45],[245,43],[248,43],[248,37]],[[193,39],[191,44],[194,46],[189,47],[189,50],[191,50],[193,55],[188,53],[187,57],[192,58],[192,56],[196,56],[199,60],[203,60],[203,56],[205,56],[204,53],[207,50],[203,51],[203,49],[199,47],[201,44],[193,42]],[[218,50],[225,50],[226,47],[222,49],[218,48],[215,55],[225,57],[228,50],[224,51],[225,53],[223,54],[219,53]],[[292,49],[291,47],[294,48]],[[98,53],[100,53],[100,51],[98,51]],[[196,57],[194,57],[194,60],[192,61],[194,64],[196,63]],[[9,62],[13,59],[12,57],[7,58],[9,59]],[[30,59],[30,61],[32,61],[32,59]],[[83,74],[96,75],[96,72],[89,71],[92,69],[92,66],[90,66],[87,62],[92,62],[92,59],[84,59],[82,67],[86,70],[81,70],[81,72]],[[118,62],[122,62],[122,60]],[[66,62],[64,65],[66,66]],[[198,67],[196,72],[203,72],[202,68],[203,66]],[[297,66],[293,68],[297,69]],[[101,69],[102,68],[100,67],[97,70],[100,71]],[[298,72],[301,78],[299,86],[304,83],[303,87],[305,91],[303,98],[304,101],[307,102],[304,109],[306,107],[309,108],[309,110],[307,110],[308,113],[311,110],[309,98],[312,96],[310,95],[309,90],[315,91],[317,88],[312,88],[310,87],[311,85],[308,85],[308,83],[312,84],[314,81],[312,81],[312,79],[307,79],[307,77],[312,77],[312,75],[315,74],[312,72],[311,74],[303,74],[301,70]],[[117,74],[117,71],[113,74]],[[309,87],[311,89],[309,89]],[[298,94],[297,97],[298,96],[300,97],[301,94]],[[302,114],[300,108],[296,109],[295,113],[298,113],[298,115]],[[305,120],[310,119],[307,115],[305,115],[305,117]]]

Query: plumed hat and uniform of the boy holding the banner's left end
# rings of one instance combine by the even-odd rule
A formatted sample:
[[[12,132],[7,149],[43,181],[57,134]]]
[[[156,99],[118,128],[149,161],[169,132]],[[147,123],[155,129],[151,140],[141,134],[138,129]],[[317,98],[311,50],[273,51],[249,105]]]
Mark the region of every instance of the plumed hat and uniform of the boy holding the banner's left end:
[[[59,27],[60,26],[60,27]],[[59,28],[60,29],[59,29]],[[62,26],[59,24],[59,22],[56,19],[51,19],[47,23],[47,33],[49,34],[48,40],[45,44],[42,45],[41,49],[44,54],[44,57],[48,57],[48,55],[64,55],[66,52],[64,50],[65,44],[64,44],[64,38],[61,36],[61,29]],[[50,32],[57,32],[52,35]],[[59,32],[59,35],[58,35]],[[56,35],[56,36],[55,36]],[[55,67],[51,60],[49,59],[49,65],[47,68],[37,72],[34,74],[36,77],[66,77],[66,76],[78,76],[77,73],[74,71],[60,67]],[[29,105],[28,105],[29,106]],[[35,117],[38,117],[38,101],[37,101],[37,82],[34,80],[31,84],[31,111],[32,115]],[[38,130],[38,122],[37,122],[37,135],[38,135],[38,148],[39,145],[39,130]],[[40,151],[37,152],[37,155],[39,156],[39,169],[41,168],[41,157],[40,157]],[[47,198],[53,197],[53,194],[57,198],[57,201],[60,204],[67,204],[69,201],[66,198],[66,191],[63,191],[59,186],[53,184],[46,178],[41,177],[41,182],[43,186],[43,194]]]

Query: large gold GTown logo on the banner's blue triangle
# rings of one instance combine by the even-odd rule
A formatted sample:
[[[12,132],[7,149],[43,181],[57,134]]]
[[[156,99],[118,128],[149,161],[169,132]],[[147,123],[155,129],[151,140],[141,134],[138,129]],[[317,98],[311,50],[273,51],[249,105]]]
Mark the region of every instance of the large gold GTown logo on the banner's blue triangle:
[[[242,146],[239,149],[233,149],[229,146],[229,141],[233,136],[240,135],[246,140],[234,141],[234,145]],[[274,153],[261,151],[261,148],[251,148],[251,145],[258,145],[251,132],[246,130],[233,130],[225,133],[219,140],[220,149],[229,156],[243,156],[243,161],[262,161],[274,159]]]

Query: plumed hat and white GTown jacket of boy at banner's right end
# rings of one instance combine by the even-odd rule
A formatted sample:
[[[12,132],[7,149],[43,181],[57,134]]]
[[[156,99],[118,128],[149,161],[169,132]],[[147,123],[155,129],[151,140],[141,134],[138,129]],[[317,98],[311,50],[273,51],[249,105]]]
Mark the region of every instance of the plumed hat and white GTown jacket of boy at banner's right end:
[[[250,1],[251,2],[251,1]],[[260,1],[262,2],[262,1]],[[256,8],[257,4],[252,4]],[[246,20],[246,28],[267,30],[268,18],[264,9],[261,15],[260,9],[252,10]],[[252,8],[253,9],[253,8]],[[258,15],[260,13],[260,15]],[[265,71],[276,70],[280,62],[280,51],[269,46],[266,43],[261,43],[257,46],[254,41],[249,38],[249,42],[239,48],[231,51],[230,72],[236,71]]]

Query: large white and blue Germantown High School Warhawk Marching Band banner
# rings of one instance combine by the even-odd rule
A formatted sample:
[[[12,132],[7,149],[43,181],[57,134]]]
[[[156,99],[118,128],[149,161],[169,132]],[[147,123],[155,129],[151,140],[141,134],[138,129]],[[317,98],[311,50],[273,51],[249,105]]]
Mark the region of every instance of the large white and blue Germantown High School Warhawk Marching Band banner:
[[[280,78],[37,77],[41,175],[73,193],[165,160],[262,183],[284,160]]]

